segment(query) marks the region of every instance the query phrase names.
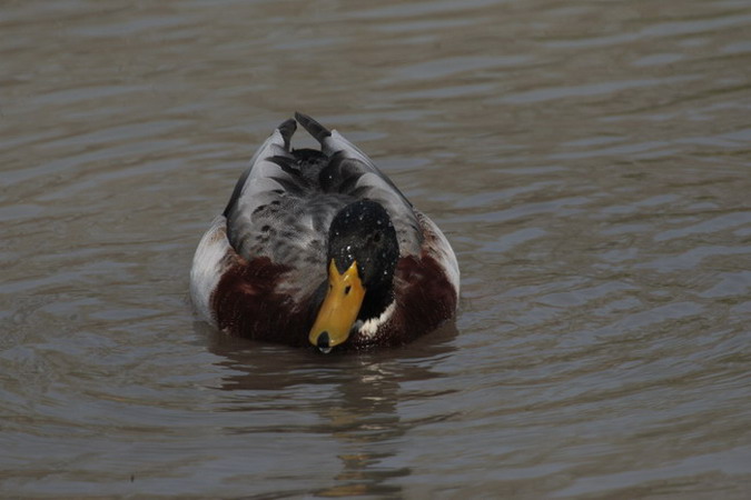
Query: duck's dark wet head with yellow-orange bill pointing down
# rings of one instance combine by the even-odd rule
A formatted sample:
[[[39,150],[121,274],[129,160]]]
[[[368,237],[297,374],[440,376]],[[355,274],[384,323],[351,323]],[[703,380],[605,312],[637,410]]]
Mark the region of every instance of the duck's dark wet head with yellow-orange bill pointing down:
[[[310,343],[328,352],[356,326],[378,318],[394,300],[398,258],[394,224],[379,203],[362,200],[344,207],[328,230],[328,288]]]

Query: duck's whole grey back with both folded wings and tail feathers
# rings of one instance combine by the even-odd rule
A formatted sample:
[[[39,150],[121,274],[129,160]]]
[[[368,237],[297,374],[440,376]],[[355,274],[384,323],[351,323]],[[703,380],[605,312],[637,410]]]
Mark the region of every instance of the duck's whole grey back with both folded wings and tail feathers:
[[[290,151],[294,120],[271,133],[237,181],[224,212],[235,251],[248,260],[268,257],[308,273],[316,269],[313,272],[320,276],[310,277],[309,292],[325,277],[334,216],[348,203],[369,199],[388,211],[401,253],[419,253],[422,230],[412,204],[391,179],[336,130],[300,113],[296,118],[320,142],[323,154]]]

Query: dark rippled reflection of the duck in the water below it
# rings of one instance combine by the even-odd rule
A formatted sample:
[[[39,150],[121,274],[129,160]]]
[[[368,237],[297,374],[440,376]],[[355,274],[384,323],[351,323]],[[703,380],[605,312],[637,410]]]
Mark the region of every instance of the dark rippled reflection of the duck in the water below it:
[[[217,357],[219,378],[208,383],[219,393],[207,400],[213,412],[233,414],[218,419],[227,422],[224,431],[248,443],[240,454],[266,450],[261,459],[250,454],[284,466],[276,490],[263,490],[266,467],[256,470],[253,460],[241,466],[251,482],[259,479],[261,490],[250,496],[402,498],[399,478],[413,473],[404,457],[414,452],[414,440],[403,436],[460,413],[435,404],[456,390],[441,382],[456,350],[453,322],[402,349],[325,359],[205,323],[195,329]]]

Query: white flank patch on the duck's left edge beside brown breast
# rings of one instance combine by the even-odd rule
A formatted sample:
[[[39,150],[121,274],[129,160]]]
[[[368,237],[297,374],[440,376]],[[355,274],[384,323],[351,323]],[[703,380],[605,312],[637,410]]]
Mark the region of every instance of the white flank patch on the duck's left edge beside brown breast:
[[[231,250],[227,241],[227,220],[218,216],[198,243],[190,268],[190,299],[200,318],[214,326],[211,293],[217,288],[225,268],[225,257]]]

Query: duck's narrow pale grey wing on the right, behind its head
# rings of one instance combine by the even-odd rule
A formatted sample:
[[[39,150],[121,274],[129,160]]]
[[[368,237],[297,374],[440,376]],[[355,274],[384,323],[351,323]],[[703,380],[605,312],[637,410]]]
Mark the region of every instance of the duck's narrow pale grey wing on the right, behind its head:
[[[423,242],[421,226],[412,203],[392,180],[336,130],[328,130],[307,114],[297,112],[295,118],[320,143],[322,152],[329,159],[318,178],[320,188],[381,203],[392,218],[402,254],[418,254]]]

